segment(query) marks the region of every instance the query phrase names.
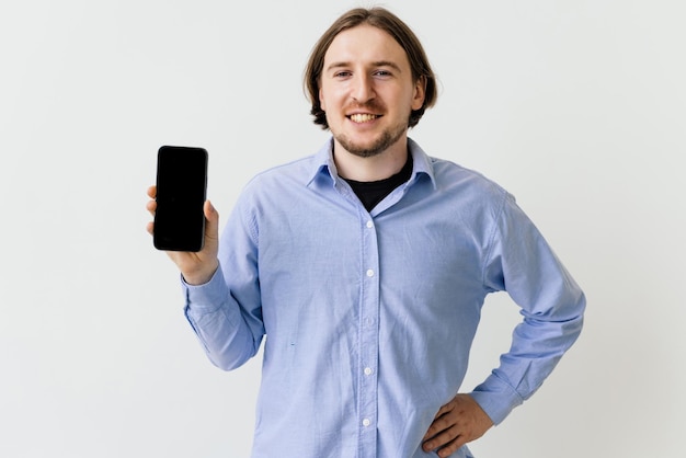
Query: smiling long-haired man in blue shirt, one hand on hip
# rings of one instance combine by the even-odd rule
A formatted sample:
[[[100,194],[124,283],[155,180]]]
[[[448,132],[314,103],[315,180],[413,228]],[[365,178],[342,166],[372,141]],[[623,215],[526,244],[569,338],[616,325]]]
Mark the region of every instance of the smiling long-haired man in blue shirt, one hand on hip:
[[[253,457],[469,457],[465,444],[531,396],[575,341],[583,293],[510,194],[408,138],[435,79],[397,16],[343,14],[306,85],[333,138],[255,176],[220,240],[206,203],[203,251],[169,253],[186,317],[222,369],[266,336]],[[457,393],[496,290],[524,320],[501,366]]]

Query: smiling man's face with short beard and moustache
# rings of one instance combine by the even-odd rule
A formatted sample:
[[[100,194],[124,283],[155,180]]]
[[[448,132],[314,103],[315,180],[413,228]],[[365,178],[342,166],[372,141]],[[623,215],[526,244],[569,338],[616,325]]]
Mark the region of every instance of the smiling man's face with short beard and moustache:
[[[371,157],[405,148],[408,121],[424,102],[402,47],[385,31],[341,32],[324,55],[319,100],[338,147]]]

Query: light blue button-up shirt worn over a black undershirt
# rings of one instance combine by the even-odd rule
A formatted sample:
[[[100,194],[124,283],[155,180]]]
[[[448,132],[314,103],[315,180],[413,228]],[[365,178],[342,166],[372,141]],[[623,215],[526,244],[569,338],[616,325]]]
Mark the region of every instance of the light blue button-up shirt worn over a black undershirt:
[[[584,295],[514,198],[409,149],[410,180],[370,213],[338,175],[332,142],[259,174],[213,279],[184,285],[215,365],[239,367],[264,340],[254,458],[435,457],[422,437],[460,389],[489,293],[506,290],[524,317],[471,392],[495,423],[579,335]]]

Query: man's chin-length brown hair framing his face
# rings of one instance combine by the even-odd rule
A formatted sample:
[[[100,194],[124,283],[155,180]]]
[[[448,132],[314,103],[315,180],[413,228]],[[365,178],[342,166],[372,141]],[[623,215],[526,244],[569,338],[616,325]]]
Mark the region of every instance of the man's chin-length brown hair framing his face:
[[[412,79],[414,81],[424,80],[424,103],[419,110],[413,110],[410,113],[410,119],[408,121],[408,127],[414,127],[422,118],[424,111],[436,103],[436,77],[414,32],[393,13],[379,7],[350,10],[340,16],[315,45],[305,69],[304,81],[306,92],[312,103],[310,113],[315,116],[315,124],[321,125],[323,129],[329,128],[327,114],[321,108],[319,102],[319,82],[324,66],[324,55],[338,34],[362,24],[378,27],[392,36],[408,55],[410,68],[412,69]]]

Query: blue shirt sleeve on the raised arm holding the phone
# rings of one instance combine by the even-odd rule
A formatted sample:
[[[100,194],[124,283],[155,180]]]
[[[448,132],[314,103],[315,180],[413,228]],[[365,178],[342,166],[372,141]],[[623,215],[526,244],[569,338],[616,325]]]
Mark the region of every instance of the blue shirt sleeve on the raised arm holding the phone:
[[[217,367],[235,369],[254,356],[264,335],[254,234],[240,208],[231,214],[211,279],[191,286],[182,279],[185,316]]]

